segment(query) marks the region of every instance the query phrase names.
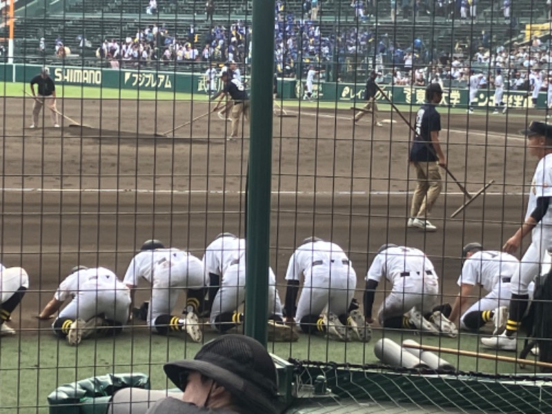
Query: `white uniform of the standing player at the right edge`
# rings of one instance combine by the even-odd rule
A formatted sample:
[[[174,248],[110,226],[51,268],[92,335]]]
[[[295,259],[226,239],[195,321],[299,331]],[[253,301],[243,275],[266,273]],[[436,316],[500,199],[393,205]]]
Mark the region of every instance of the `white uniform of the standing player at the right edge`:
[[[525,219],[528,219],[537,206],[538,197],[552,197],[552,154],[540,159],[533,175],[529,203]],[[528,295],[529,284],[540,274],[541,264],[546,261],[546,249],[552,245],[552,208],[533,228],[531,245],[520,263],[520,271],[512,277],[511,290],[514,295]]]

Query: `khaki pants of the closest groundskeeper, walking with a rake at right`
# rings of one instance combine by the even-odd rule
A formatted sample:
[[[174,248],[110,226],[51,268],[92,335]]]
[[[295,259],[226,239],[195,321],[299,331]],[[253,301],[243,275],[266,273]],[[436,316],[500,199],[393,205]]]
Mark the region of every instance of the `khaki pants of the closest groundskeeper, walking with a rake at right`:
[[[418,184],[412,197],[411,217],[425,219],[431,214],[433,204],[442,190],[442,177],[439,164],[433,162],[413,162]]]

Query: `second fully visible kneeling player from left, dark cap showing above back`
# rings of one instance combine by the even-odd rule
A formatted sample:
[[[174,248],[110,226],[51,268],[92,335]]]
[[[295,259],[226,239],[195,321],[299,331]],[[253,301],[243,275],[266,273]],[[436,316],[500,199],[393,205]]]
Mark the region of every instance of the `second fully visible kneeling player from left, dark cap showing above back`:
[[[146,240],[140,252],[132,258],[124,277],[130,288],[132,303],[139,279],[151,284],[148,306],[141,306],[152,332],[167,335],[186,332],[193,342],[201,342],[197,312],[205,296],[204,271],[201,260],[178,248],[165,248],[159,240]],[[186,289],[186,316],[172,315],[180,290]]]

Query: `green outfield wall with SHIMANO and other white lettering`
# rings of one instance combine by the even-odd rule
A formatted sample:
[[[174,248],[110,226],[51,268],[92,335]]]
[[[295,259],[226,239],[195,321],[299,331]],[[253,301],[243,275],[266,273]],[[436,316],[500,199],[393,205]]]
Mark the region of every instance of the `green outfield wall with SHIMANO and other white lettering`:
[[[3,64],[0,65],[0,81],[28,83],[40,71],[40,65]],[[128,90],[157,90],[165,92],[207,93],[207,79],[201,73],[164,72],[153,70],[131,70],[110,68],[81,68],[77,66],[50,66],[50,76],[57,85],[92,86]],[[296,79],[279,79],[278,96],[281,99],[300,99],[304,92],[304,82]],[[420,105],[424,102],[425,89],[410,86],[381,86],[387,96],[396,104]],[[221,81],[217,81],[221,88]],[[362,101],[364,83],[315,83],[313,99],[330,102]],[[480,90],[474,106],[494,106],[493,90]],[[386,99],[378,92],[377,101]],[[469,93],[466,88],[451,88],[443,94],[443,105],[452,108],[466,108]],[[527,108],[531,95],[524,91],[504,92],[504,101],[510,108]],[[546,93],[541,92],[538,108],[546,108]]]

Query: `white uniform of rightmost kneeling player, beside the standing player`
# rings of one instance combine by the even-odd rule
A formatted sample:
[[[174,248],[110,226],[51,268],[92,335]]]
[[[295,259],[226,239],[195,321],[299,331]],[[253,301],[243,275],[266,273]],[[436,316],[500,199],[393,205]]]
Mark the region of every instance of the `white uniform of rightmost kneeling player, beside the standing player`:
[[[520,261],[508,253],[483,250],[466,259],[458,286],[481,285],[488,293],[464,312],[460,327],[466,329],[464,317],[471,312],[493,311],[499,306],[509,306],[511,279],[517,273]]]

